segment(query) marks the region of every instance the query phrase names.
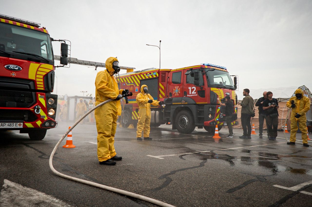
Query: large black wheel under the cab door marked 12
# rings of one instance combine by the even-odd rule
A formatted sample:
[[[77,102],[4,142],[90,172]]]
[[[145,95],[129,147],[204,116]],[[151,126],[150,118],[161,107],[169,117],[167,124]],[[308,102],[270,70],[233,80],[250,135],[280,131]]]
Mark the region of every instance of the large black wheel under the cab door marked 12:
[[[180,133],[189,134],[193,132],[195,124],[192,114],[188,111],[180,111],[175,118],[175,126]]]

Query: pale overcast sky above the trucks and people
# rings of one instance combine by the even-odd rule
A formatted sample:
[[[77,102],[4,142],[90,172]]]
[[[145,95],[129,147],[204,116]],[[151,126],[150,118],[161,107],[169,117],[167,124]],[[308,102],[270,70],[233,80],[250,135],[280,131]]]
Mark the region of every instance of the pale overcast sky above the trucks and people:
[[[1,14],[40,23],[54,39],[70,40],[73,58],[105,63],[117,56],[122,66],[158,68],[159,49],[146,44],[159,46],[161,40],[161,68],[225,66],[238,75],[240,91],[312,89],[311,11],[310,0],[11,0],[0,7]],[[59,43],[53,47],[59,55]],[[94,96],[100,70],[57,68],[54,93]]]

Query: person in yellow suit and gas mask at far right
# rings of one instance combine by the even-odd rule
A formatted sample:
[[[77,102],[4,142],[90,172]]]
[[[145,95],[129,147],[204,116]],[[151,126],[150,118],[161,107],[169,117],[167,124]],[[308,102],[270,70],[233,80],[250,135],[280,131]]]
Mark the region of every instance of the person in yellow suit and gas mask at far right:
[[[290,142],[287,142],[287,144],[295,144],[298,123],[301,131],[303,146],[309,147],[306,125],[307,117],[305,115],[310,110],[309,98],[304,96],[301,89],[297,89],[295,91],[295,96],[291,97],[289,101],[287,101],[286,106],[288,108],[292,108],[290,114]]]

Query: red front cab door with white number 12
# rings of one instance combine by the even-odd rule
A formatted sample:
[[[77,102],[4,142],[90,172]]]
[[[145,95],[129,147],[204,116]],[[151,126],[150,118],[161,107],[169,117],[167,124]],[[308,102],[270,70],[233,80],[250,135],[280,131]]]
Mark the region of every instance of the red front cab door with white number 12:
[[[200,69],[185,69],[183,75],[183,99],[187,103],[207,103],[202,71]],[[193,100],[191,100],[193,99]]]

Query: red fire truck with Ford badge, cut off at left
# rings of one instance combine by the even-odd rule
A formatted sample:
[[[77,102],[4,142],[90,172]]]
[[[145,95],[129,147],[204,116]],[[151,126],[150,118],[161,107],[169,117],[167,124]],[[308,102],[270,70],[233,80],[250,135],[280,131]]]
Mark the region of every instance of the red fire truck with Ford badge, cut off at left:
[[[61,65],[69,45],[53,40],[45,27],[0,15],[0,130],[20,130],[41,140],[57,122],[52,41],[61,41]]]

